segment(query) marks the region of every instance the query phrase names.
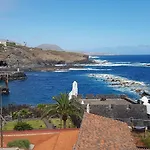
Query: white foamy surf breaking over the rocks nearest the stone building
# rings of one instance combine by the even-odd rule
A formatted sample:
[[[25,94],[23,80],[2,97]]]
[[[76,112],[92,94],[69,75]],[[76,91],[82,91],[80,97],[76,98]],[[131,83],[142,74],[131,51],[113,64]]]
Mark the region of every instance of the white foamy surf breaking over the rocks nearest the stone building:
[[[113,87],[117,90],[125,90],[134,93],[140,93],[149,89],[144,82],[129,80],[127,78],[116,76],[112,74],[89,74],[89,77],[98,78],[104,81],[108,86]]]

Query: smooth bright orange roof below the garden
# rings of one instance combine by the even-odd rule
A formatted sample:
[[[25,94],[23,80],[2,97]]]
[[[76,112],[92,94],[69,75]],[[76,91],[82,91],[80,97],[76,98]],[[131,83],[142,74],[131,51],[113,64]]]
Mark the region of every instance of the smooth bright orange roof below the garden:
[[[72,150],[77,141],[78,129],[32,130],[5,132],[4,146],[16,139],[28,139],[35,145],[33,150]]]

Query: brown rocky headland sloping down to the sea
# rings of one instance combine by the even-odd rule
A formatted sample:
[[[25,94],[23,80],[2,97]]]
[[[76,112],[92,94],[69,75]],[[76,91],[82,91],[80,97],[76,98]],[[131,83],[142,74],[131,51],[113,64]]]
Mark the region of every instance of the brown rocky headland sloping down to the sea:
[[[25,46],[0,47],[0,60],[5,60],[9,66],[16,67],[44,67],[60,63],[86,63],[88,56],[80,53],[43,51],[39,48]]]

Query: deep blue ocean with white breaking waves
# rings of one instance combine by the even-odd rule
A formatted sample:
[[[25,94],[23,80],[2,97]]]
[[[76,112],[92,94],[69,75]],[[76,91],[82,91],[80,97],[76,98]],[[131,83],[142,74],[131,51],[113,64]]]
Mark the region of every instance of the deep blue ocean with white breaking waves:
[[[97,64],[76,64],[83,68],[68,71],[26,72],[26,80],[9,82],[10,94],[3,96],[3,104],[54,103],[52,97],[69,93],[73,81],[78,82],[79,93],[84,96],[126,94],[137,100],[140,96],[136,90],[150,91],[150,55],[91,56],[90,59]]]

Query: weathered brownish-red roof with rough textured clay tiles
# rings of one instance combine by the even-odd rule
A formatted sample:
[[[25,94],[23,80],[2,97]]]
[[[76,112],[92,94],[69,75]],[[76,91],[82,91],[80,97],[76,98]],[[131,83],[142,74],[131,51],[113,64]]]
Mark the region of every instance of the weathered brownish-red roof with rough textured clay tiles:
[[[75,150],[137,150],[126,123],[84,114]]]

